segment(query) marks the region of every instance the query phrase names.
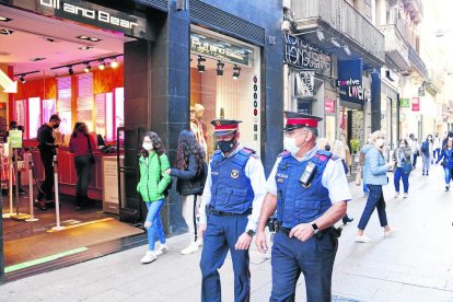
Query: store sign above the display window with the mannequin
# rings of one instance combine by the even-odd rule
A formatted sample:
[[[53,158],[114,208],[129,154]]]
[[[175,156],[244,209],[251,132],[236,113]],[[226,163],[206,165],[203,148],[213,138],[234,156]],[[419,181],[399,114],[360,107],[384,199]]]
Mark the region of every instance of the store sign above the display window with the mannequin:
[[[253,48],[230,40],[221,40],[205,33],[190,33],[190,53],[211,57],[216,60],[253,67]]]

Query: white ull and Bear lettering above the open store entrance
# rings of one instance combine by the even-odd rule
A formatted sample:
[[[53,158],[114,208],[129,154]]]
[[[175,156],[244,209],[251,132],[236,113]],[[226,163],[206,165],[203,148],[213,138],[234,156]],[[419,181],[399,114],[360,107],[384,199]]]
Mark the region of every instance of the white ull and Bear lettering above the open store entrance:
[[[67,2],[61,2],[61,0],[39,0],[42,7],[50,8],[54,10],[61,10],[66,13],[83,16],[90,20],[95,20],[98,22],[107,23],[109,25],[119,26],[123,28],[131,30],[133,26],[138,26],[138,23],[113,16],[111,13],[103,10],[86,9],[70,4]],[[62,4],[62,5],[61,5]]]

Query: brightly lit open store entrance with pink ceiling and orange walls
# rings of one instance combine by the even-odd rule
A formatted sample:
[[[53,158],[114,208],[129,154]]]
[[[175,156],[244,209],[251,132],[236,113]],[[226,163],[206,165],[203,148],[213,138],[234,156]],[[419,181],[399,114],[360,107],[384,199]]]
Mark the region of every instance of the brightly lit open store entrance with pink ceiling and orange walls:
[[[4,5],[0,5],[0,69],[18,81],[16,93],[0,93],[5,272],[20,272],[85,253],[105,242],[142,234],[141,229],[119,221],[120,205],[115,195],[117,152],[123,158],[124,140],[117,135],[117,128],[124,126],[124,45],[136,39]],[[61,119],[53,133],[59,146],[59,195],[46,197],[45,209],[31,207],[45,176],[37,149],[38,128],[54,114]],[[7,138],[13,120],[23,126],[23,144],[16,148],[14,159],[11,138]],[[86,125],[95,142],[91,146],[95,162],[88,196],[81,205],[77,205],[76,196],[76,154],[68,146],[78,121]],[[9,172],[11,162],[19,163],[18,167],[13,164],[13,171],[20,172],[18,177]],[[32,210],[36,220],[26,221]]]

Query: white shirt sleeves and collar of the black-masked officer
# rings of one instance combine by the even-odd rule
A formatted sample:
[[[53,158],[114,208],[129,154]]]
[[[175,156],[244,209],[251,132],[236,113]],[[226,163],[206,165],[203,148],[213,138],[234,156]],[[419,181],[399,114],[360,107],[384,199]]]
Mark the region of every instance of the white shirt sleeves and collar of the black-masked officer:
[[[239,144],[237,148],[229,154],[229,158],[236,154],[241,149],[243,149],[243,147]],[[252,214],[247,217],[248,222],[247,222],[247,226],[245,228],[245,230],[255,231],[256,226],[258,225],[258,219],[262,212],[262,206],[263,206],[263,201],[266,195],[266,188],[265,188],[266,178],[265,178],[262,161],[251,155],[248,158],[247,163],[245,164],[244,172],[245,172],[245,176],[247,176],[251,179],[252,188],[255,194],[255,198],[253,199],[253,202],[252,202],[252,208],[253,208]],[[207,223],[206,205],[209,205],[209,202],[211,201],[211,186],[212,186],[211,164],[209,163],[208,175],[206,177],[205,189],[202,191],[201,205],[199,209],[200,224]]]

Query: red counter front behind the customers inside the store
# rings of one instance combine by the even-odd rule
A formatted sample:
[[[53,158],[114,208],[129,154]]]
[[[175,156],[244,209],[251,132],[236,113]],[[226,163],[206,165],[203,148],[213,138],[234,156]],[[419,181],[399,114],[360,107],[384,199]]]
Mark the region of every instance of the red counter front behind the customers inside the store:
[[[36,171],[36,177],[42,183],[44,181],[44,166],[40,162],[39,151],[33,150],[33,164]],[[93,151],[95,163],[91,170],[89,197],[96,200],[103,200],[103,158],[114,158],[116,154],[105,154],[101,151]],[[74,165],[74,154],[63,149],[58,150],[58,190],[61,194],[76,196],[77,173]]]

